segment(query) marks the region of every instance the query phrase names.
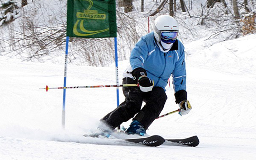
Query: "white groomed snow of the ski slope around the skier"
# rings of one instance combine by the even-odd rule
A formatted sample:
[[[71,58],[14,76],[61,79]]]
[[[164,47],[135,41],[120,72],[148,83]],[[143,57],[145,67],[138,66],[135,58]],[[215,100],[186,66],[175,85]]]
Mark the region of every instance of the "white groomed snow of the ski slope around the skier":
[[[63,64],[0,57],[1,160],[254,160],[256,157],[256,35],[204,47],[185,44],[192,110],[157,119],[147,131],[164,138],[197,135],[196,148],[124,146],[82,135],[116,108],[116,88],[67,89],[66,129],[61,129]],[[129,61],[119,62],[119,78]],[[68,65],[67,86],[115,84],[115,66]],[[176,110],[172,87],[161,114]],[[120,102],[124,100],[120,88]],[[124,123],[127,127],[131,121]],[[106,145],[106,144],[112,145]]]

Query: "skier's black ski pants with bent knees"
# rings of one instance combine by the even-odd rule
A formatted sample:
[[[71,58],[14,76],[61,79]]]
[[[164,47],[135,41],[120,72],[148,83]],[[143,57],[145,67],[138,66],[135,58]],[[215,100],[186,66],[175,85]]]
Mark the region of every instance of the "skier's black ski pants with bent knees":
[[[136,83],[137,81],[129,77],[123,79],[123,84]],[[123,87],[123,93],[124,102],[100,120],[112,129],[133,118],[137,113],[133,120],[139,121],[145,130],[148,129],[149,125],[160,115],[167,100],[165,91],[161,87],[153,87],[150,92],[142,92],[139,87]],[[141,109],[143,101],[146,105]]]

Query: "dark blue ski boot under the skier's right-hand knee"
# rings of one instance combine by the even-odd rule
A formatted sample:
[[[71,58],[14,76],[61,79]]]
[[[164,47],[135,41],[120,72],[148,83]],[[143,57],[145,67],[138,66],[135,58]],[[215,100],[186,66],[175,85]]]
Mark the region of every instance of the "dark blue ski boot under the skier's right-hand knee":
[[[139,134],[140,136],[144,136],[146,134],[146,130],[144,129],[143,125],[137,121],[133,120],[130,124],[130,127],[127,128],[125,131],[127,134]]]

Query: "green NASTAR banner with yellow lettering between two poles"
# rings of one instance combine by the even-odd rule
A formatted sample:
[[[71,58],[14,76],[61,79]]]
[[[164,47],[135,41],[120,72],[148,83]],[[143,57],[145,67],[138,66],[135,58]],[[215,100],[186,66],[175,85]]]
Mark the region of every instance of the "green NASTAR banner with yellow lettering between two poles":
[[[68,0],[67,36],[116,37],[115,0]]]

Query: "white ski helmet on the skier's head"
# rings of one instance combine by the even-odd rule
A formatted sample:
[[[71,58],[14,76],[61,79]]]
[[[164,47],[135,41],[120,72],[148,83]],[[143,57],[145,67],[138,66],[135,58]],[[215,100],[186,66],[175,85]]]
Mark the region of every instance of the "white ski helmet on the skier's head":
[[[178,22],[169,15],[161,15],[156,18],[153,23],[154,36],[157,42],[160,42],[161,31],[179,31]]]

